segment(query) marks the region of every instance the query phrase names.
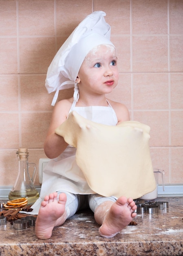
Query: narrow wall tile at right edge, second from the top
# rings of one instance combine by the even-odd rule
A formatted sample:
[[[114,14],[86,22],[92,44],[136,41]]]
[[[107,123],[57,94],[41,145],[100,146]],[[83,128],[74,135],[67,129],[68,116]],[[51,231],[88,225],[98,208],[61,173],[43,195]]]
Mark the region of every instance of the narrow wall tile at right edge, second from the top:
[[[183,72],[183,36],[170,36],[170,71]]]

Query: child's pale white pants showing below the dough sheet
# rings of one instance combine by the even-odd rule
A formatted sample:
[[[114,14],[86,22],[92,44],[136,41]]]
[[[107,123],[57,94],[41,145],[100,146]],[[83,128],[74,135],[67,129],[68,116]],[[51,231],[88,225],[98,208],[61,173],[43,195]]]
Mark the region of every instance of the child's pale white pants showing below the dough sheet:
[[[117,198],[115,196],[104,197],[98,194],[90,194],[90,195],[79,195],[72,194],[66,191],[57,191],[58,196],[60,193],[65,193],[67,196],[66,201],[66,213],[67,219],[73,216],[79,209],[90,208],[93,212],[97,206],[106,201],[116,202]]]

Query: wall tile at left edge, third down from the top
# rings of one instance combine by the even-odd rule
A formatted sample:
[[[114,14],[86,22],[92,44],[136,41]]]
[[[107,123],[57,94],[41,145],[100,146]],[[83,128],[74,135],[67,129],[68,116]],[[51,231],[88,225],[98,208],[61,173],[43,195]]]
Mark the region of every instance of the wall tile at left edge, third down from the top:
[[[18,76],[0,76],[0,111],[18,111]]]

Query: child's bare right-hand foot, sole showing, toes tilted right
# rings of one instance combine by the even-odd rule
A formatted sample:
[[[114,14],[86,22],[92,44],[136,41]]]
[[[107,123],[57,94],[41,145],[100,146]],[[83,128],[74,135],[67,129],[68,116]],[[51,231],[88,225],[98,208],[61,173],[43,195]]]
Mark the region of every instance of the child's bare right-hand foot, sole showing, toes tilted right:
[[[104,217],[104,221],[99,228],[100,235],[106,238],[115,236],[136,216],[136,213],[134,213],[136,209],[137,206],[132,198],[127,199],[124,196],[118,198]]]

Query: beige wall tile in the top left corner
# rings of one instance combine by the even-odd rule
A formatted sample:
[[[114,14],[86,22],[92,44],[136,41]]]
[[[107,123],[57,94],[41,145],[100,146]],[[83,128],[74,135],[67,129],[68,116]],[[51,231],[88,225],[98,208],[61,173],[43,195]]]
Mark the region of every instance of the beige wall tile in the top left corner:
[[[16,1],[0,0],[0,35],[17,35]]]

